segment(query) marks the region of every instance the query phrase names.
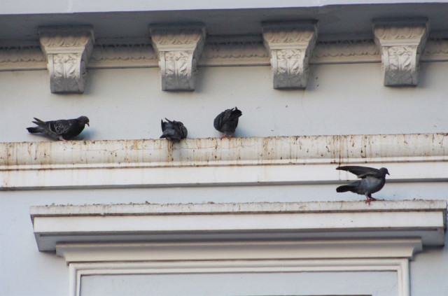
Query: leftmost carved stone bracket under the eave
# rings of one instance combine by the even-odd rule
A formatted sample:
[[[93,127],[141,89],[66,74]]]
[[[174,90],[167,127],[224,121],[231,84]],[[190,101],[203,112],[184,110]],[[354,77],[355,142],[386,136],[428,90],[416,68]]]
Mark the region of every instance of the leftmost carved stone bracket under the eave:
[[[93,28],[41,27],[38,34],[47,57],[51,92],[84,92],[87,61],[94,45]]]

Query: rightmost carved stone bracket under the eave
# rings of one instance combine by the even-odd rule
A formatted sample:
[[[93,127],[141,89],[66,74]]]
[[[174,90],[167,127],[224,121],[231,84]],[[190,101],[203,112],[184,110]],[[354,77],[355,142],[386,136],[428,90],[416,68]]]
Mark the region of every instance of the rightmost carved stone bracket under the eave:
[[[381,53],[384,85],[417,85],[420,56],[428,38],[428,20],[377,20],[373,32]]]

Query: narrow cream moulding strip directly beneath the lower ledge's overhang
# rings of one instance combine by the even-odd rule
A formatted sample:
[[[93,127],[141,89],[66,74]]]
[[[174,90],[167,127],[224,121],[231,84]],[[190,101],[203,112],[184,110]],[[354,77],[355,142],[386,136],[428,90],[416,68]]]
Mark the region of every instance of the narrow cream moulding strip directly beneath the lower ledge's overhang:
[[[281,250],[281,252],[279,252]],[[323,239],[306,241],[107,242],[56,244],[71,262],[407,258],[423,250],[421,239]],[[329,255],[331,254],[331,255]]]

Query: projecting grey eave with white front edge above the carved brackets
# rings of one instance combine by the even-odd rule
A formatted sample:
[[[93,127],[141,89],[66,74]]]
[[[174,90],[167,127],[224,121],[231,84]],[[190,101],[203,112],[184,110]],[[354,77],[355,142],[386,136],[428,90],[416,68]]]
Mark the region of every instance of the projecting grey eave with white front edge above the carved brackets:
[[[262,22],[316,20],[319,38],[344,34],[372,35],[379,17],[427,17],[431,31],[447,31],[447,1],[13,1],[2,6],[1,39],[37,39],[37,28],[48,25],[90,24],[97,38],[145,38],[148,24],[202,22],[207,34],[260,35]],[[32,2],[32,3],[31,3]],[[157,3],[156,3],[157,2]],[[300,4],[297,4],[300,2]],[[416,13],[417,12],[417,13]],[[229,22],[231,20],[231,22]],[[351,35],[351,37],[350,37]]]

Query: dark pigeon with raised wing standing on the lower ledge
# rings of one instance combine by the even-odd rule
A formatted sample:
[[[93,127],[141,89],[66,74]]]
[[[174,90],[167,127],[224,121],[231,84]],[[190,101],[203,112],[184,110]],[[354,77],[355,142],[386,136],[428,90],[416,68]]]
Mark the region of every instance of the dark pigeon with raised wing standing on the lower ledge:
[[[358,195],[365,195],[367,199],[365,202],[369,203],[372,200],[377,200],[372,197],[372,193],[378,192],[386,183],[386,174],[389,174],[385,167],[381,169],[374,169],[372,167],[346,166],[337,167],[336,169],[342,171],[349,171],[355,174],[361,180],[353,181],[349,185],[342,185],[336,188],[337,192],[351,191],[358,193]]]

